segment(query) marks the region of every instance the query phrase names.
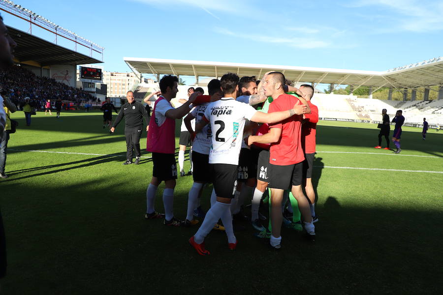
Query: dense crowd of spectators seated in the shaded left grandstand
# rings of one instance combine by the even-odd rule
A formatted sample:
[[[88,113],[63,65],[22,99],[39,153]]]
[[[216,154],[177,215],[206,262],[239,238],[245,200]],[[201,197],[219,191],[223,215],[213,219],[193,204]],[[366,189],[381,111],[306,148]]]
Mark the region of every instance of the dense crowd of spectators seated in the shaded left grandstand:
[[[70,87],[55,79],[38,77],[31,70],[14,65],[7,71],[0,71],[1,95],[7,96],[19,108],[29,97],[30,105],[35,110],[44,110],[45,102],[61,99],[67,106],[80,106],[95,102],[96,98],[83,89]]]

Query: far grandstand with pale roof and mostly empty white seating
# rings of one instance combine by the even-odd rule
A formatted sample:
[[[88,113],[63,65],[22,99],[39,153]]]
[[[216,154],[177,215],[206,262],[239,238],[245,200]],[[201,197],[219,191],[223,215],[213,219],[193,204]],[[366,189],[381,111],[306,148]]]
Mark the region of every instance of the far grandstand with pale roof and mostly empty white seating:
[[[202,86],[203,89],[202,82],[208,80],[207,77],[219,78],[224,73],[234,72],[239,76],[258,78],[271,70],[283,72],[294,86],[305,83],[316,88],[320,83],[329,84],[329,94],[316,91],[312,99],[318,106],[320,118],[324,120],[378,123],[382,109],[386,109],[391,118],[396,110],[402,109],[406,118],[405,125],[421,126],[424,117],[427,118],[430,128],[443,123],[443,58],[429,59],[381,72],[175,59],[124,60],[135,74],[155,75],[157,81],[160,75],[192,76],[195,77],[195,86]],[[349,87],[349,95],[333,94],[335,89],[344,85]],[[148,91],[149,85],[143,87]],[[361,87],[369,89],[368,98],[353,95],[353,92]],[[151,88],[155,88],[155,85],[151,85]],[[183,86],[182,88],[185,90]],[[373,99],[373,93],[380,89],[388,89],[386,99]],[[179,86],[178,98],[186,95],[186,91],[183,90]],[[429,99],[430,91],[438,93],[437,99]],[[403,100],[392,100],[394,92],[401,93]],[[422,92],[423,100],[416,99],[417,92]],[[407,100],[408,98],[410,100]]]

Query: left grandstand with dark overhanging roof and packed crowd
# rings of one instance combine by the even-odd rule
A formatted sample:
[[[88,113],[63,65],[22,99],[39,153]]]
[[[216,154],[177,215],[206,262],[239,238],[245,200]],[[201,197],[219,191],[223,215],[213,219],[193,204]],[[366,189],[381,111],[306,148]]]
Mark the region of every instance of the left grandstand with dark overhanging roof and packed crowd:
[[[0,71],[1,95],[10,97],[18,106],[29,97],[36,110],[42,109],[47,99],[53,104],[61,99],[66,109],[96,100],[92,91],[76,88],[76,70],[79,64],[103,62],[104,48],[12,1],[1,0],[0,10],[22,20],[28,27],[25,32],[6,26],[17,46],[15,65]],[[42,32],[52,35],[55,43],[41,38]],[[75,49],[61,46],[62,40]]]

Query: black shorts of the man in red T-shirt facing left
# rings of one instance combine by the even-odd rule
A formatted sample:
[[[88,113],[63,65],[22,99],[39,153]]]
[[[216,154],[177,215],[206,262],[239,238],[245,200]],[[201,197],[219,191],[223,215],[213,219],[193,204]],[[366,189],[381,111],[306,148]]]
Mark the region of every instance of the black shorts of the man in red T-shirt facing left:
[[[303,162],[285,166],[269,164],[269,170],[272,179],[268,185],[270,188],[290,190],[292,185],[303,183]]]

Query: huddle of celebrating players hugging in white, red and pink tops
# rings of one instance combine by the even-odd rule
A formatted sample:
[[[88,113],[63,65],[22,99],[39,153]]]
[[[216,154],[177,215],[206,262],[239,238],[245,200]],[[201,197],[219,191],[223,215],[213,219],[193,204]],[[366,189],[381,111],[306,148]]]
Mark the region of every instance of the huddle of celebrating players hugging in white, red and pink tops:
[[[165,225],[186,227],[199,222],[193,215],[204,218],[189,242],[198,254],[209,255],[204,239],[212,229],[224,229],[228,248],[236,248],[233,216],[244,217],[240,210],[250,198],[251,222],[258,231],[256,236],[269,238],[272,248],[282,247],[282,224],[299,231],[304,228],[306,236],[315,240],[316,194],[311,177],[318,109],[310,102],[314,94],[311,85],[297,89],[287,84],[290,83],[281,72],[268,72],[261,81],[255,81],[255,77],[240,79],[236,74],[227,73],[221,80],[209,82],[209,95],[202,95],[202,89],[190,89],[189,99],[180,101],[181,106],[174,108],[170,101],[178,92],[178,78],[162,77],[159,81],[161,95],[152,111],[147,138],[153,173],[146,191],[145,218],[164,218]],[[175,119],[185,116],[183,123],[190,134],[188,141],[193,140],[190,144],[193,184],[187,217],[181,221],[173,214],[177,179]],[[186,148],[185,141],[180,145]],[[181,152],[182,148],[179,162]],[[183,166],[180,166],[183,176]],[[162,181],[165,183],[165,214],[158,213],[154,207]],[[207,183],[212,183],[214,189],[211,207],[205,213],[199,200]],[[265,217],[259,213],[267,189],[268,229],[261,225],[260,219]],[[286,208],[288,200],[290,206]],[[284,210],[292,212],[292,221],[283,217]]]

